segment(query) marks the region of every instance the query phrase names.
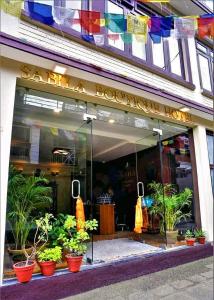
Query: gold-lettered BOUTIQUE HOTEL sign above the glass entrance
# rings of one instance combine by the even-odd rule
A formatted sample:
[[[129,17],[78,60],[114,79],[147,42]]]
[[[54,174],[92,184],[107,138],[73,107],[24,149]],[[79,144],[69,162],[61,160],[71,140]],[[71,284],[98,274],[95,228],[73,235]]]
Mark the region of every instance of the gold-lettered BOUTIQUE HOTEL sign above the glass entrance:
[[[21,68],[21,78],[61,87],[75,93],[97,97],[108,102],[115,102],[123,105],[126,110],[134,108],[148,114],[162,115],[173,120],[192,123],[192,118],[189,113],[147,100],[143,97],[134,96],[121,90],[109,88],[101,84],[94,84],[88,81],[79,80],[75,77],[56,74],[44,69],[34,69],[28,66],[23,66]]]

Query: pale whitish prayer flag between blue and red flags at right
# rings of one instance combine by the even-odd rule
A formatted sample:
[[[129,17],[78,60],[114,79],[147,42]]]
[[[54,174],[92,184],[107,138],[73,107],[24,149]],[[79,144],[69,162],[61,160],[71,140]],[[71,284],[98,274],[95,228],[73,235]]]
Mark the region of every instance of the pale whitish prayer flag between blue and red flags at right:
[[[194,18],[175,18],[174,19],[175,38],[185,39],[195,36],[195,19]]]

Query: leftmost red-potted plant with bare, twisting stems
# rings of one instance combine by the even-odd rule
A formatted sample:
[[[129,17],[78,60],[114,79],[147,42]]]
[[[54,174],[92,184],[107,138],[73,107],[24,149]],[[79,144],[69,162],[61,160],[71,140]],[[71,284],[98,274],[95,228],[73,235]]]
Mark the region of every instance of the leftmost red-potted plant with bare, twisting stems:
[[[52,228],[52,218],[53,216],[51,214],[45,214],[45,217],[42,217],[35,221],[36,232],[34,235],[34,244],[32,246],[32,251],[30,254],[25,250],[25,244],[23,244],[22,246],[22,250],[25,254],[26,260],[15,263],[13,265],[13,269],[16,273],[17,279],[21,283],[28,282],[32,278],[33,270],[35,267],[35,255],[37,251],[41,251],[41,249],[48,241],[48,232]]]

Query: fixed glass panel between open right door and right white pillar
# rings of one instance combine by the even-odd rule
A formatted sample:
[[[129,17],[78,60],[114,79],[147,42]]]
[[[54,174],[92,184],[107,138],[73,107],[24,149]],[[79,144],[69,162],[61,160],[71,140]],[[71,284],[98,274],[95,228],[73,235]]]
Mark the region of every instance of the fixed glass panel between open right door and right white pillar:
[[[167,244],[179,245],[185,243],[186,230],[195,226],[190,140],[182,127],[180,133],[172,124],[161,122],[161,127]]]

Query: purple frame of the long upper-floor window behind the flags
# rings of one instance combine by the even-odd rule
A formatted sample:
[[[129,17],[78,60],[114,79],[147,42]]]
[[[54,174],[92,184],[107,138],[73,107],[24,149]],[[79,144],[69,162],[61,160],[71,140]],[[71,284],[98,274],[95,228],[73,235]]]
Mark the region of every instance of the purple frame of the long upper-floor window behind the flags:
[[[36,0],[30,0],[30,1],[36,1]],[[55,3],[61,3],[62,5],[65,4],[64,0],[54,0]],[[153,10],[151,10],[148,6],[146,6],[144,3],[139,3],[136,2],[134,0],[130,0],[130,2],[126,1],[126,0],[109,0],[110,2],[119,5],[121,8],[124,9],[124,14],[127,15],[127,12],[131,12],[134,11],[138,14],[149,14],[150,16],[154,16],[157,15],[156,12],[154,12]],[[25,2],[26,3],[26,2]],[[99,0],[99,1],[93,1],[92,3],[92,8],[93,10],[98,10],[101,13],[104,13],[106,11],[106,4],[107,1],[105,0]],[[82,9],[87,10],[88,9],[88,1],[82,1]],[[29,13],[27,10],[27,5],[25,6],[25,15],[27,15],[29,17]],[[79,38],[81,39],[81,42],[83,43],[87,43],[87,45],[89,47],[93,47],[95,46],[95,44],[93,42],[88,43],[85,42],[82,39],[82,35],[85,34],[84,30],[82,30],[81,32],[75,31],[74,29],[71,28],[66,28],[65,26],[60,26],[56,23],[54,23],[51,27],[53,27],[54,29],[60,31],[60,32],[65,32],[69,35],[71,35],[71,37],[75,37],[75,38]],[[101,34],[105,34],[107,32],[107,28],[101,28]],[[192,81],[192,71],[191,71],[191,64],[190,64],[190,54],[189,54],[189,47],[188,47],[188,42],[186,40],[184,40],[184,43],[182,43],[182,41],[178,41],[179,43],[179,49],[181,49],[182,51],[180,51],[180,62],[181,62],[181,76],[172,73],[167,61],[167,58],[169,57],[169,48],[168,47],[168,42],[167,40],[164,40],[164,60],[165,65],[167,66],[166,70],[164,70],[163,68],[160,68],[156,65],[154,65],[152,63],[152,51],[151,51],[151,41],[150,41],[150,37],[148,37],[148,42],[146,43],[146,60],[138,58],[134,55],[132,55],[132,45],[131,44],[127,44],[124,43],[124,50],[120,50],[117,49],[116,47],[113,47],[111,45],[108,45],[107,42],[107,36],[105,36],[105,42],[104,42],[104,46],[96,46],[96,48],[103,50],[105,53],[107,52],[108,54],[116,54],[119,55],[120,59],[123,58],[124,61],[128,61],[129,63],[132,63],[134,65],[137,65],[138,67],[142,67],[143,69],[156,73],[159,76],[163,76],[165,78],[167,78],[168,80],[171,80],[173,82],[176,82],[178,84],[181,84],[182,86],[185,86],[191,90],[195,89],[195,85],[193,84]],[[185,52],[185,56],[183,55],[183,51]],[[184,62],[184,57],[186,59],[186,64]]]

